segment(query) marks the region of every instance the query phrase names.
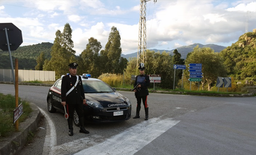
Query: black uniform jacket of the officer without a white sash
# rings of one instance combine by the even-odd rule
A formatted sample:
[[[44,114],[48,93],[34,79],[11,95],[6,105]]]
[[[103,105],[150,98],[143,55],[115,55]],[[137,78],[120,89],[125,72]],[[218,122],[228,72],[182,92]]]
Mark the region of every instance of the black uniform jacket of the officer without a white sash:
[[[135,92],[135,96],[147,96],[149,95],[148,87],[150,86],[150,77],[148,75],[137,75],[133,87],[140,84],[139,91]]]

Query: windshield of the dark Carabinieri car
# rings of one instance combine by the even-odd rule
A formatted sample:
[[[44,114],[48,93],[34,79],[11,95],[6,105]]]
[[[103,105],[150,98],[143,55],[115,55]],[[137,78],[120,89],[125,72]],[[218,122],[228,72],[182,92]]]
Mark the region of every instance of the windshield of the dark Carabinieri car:
[[[111,93],[114,92],[111,87],[102,81],[83,81],[85,93]]]

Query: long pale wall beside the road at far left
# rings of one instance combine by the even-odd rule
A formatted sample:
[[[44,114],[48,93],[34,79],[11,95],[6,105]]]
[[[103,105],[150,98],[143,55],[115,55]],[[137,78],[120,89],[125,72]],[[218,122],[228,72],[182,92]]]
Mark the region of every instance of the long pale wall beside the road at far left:
[[[14,70],[15,77],[15,70]],[[55,81],[55,71],[18,70],[19,82],[25,81]],[[12,69],[0,69],[0,81],[13,81]]]

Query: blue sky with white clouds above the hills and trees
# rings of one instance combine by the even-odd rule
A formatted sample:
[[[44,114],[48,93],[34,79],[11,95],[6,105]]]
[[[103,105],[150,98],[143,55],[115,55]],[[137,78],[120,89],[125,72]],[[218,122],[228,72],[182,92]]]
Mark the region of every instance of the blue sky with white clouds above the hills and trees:
[[[151,0],[147,2],[147,49],[173,50],[195,43],[231,46],[256,28],[256,1]],[[140,0],[0,0],[0,23],[22,31],[21,46],[53,43],[69,23],[76,55],[94,37],[104,49],[111,27],[122,54],[137,52]]]

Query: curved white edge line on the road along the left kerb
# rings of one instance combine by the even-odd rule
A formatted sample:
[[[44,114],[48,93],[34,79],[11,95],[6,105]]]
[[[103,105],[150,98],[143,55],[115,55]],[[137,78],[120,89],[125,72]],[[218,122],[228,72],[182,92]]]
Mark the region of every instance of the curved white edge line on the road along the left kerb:
[[[50,119],[49,115],[40,107],[38,107],[40,111],[44,114],[46,121],[47,121],[47,130],[45,136],[45,143],[43,148],[43,155],[51,154],[51,147],[57,145],[57,136],[54,123]],[[50,129],[50,130],[49,130]]]

